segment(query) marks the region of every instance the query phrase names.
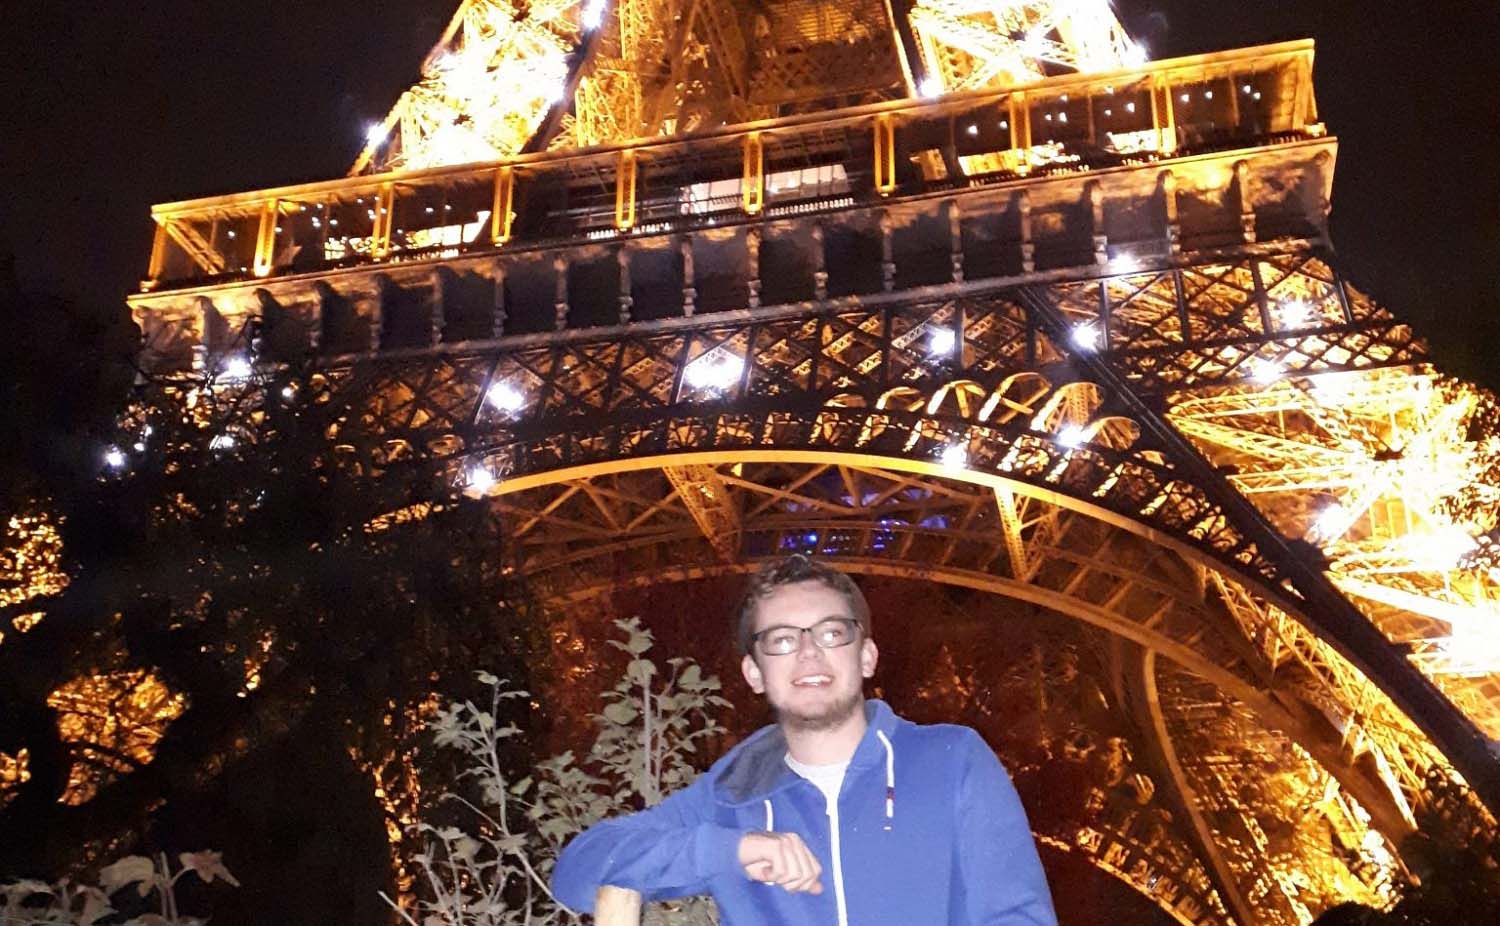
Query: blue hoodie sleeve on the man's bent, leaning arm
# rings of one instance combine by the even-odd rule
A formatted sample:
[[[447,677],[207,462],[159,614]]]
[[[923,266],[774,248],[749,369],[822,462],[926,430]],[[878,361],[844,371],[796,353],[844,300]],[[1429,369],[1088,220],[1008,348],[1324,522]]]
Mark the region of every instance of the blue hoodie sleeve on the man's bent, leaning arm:
[[[574,912],[592,912],[604,884],[648,900],[704,893],[710,878],[740,867],[744,836],[711,822],[712,806],[705,774],[656,807],[594,824],[562,848],[552,893]]]

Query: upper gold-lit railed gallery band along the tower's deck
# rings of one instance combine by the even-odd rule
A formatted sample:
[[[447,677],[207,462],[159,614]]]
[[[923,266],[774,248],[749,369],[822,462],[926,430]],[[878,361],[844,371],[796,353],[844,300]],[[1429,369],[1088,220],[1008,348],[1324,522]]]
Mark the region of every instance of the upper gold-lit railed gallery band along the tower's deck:
[[[1312,42],[171,203],[142,290],[608,240],[1322,134]]]

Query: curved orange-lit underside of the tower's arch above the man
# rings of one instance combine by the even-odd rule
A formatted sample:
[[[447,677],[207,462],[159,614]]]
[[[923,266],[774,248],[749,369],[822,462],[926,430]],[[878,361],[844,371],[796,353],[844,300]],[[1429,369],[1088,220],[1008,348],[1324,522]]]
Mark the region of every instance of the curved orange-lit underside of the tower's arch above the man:
[[[1420,743],[1420,734],[1389,702],[1371,701],[1370,686],[1326,644],[1221,573],[1212,573],[1216,599],[1204,600],[1203,578],[1176,554],[1028,500],[1034,506],[1028,521],[1054,527],[1046,534],[1028,531],[1023,557],[1032,573],[1017,585],[1010,581],[1014,576],[999,516],[972,519],[976,506],[987,501],[982,486],[831,465],[735,468],[741,474],[726,473],[723,482],[738,500],[734,507],[742,513],[746,549],[810,551],[861,563],[888,557],[998,594],[1044,594],[1048,606],[1186,662],[1245,698],[1254,698],[1246,684],[1276,690],[1281,680],[1300,678],[1280,695],[1284,704],[1262,698],[1257,708],[1270,711],[1275,725],[1292,731],[1329,767],[1383,831],[1400,836],[1410,827],[1404,801],[1420,800],[1420,770],[1437,753],[1412,746]],[[688,557],[699,536],[696,519],[657,473],[644,468],[594,480],[597,492],[622,506],[609,522],[627,525],[622,530],[590,527],[598,521],[597,509],[578,494],[578,482],[501,495],[498,503],[518,525],[522,558],[538,587],[572,602],[572,596],[588,597],[622,575],[656,581],[666,560],[675,569],[724,564],[717,554]],[[1292,657],[1298,666],[1288,674]],[[1316,707],[1298,707],[1304,701]],[[1320,711],[1332,711],[1322,726],[1312,716]],[[1368,732],[1360,732],[1365,726]],[[1342,740],[1335,729],[1344,731]],[[1400,782],[1371,773],[1371,750],[1389,756],[1380,759],[1383,767],[1402,770]]]

